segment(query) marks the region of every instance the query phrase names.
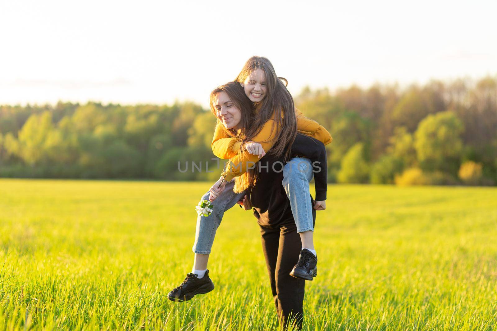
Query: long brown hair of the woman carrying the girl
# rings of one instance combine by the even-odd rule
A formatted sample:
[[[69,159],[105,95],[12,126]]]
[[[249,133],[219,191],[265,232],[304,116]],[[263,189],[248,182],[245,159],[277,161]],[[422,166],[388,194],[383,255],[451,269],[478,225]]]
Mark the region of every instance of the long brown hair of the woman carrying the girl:
[[[235,104],[235,106],[240,110],[242,113],[242,118],[240,120],[239,124],[239,130],[235,129],[226,129],[226,127],[223,125],[221,120],[217,120],[216,126],[219,126],[219,128],[225,132],[228,136],[238,138],[240,141],[242,141],[242,145],[240,147],[239,153],[242,153],[244,151],[243,146],[244,143],[251,140],[253,135],[247,135],[247,131],[250,130],[250,127],[252,126],[252,123],[255,120],[255,113],[254,113],[254,107],[252,105],[252,102],[250,99],[248,99],[247,95],[245,95],[244,89],[242,86],[237,83],[237,82],[229,82],[226,84],[223,84],[221,86],[216,87],[214,90],[212,90],[211,95],[210,95],[210,108],[214,116],[216,116],[216,107],[215,107],[215,99],[218,93],[221,92],[226,92],[228,94],[228,97],[230,100]],[[216,116],[217,117],[217,116]],[[226,166],[229,166],[229,162],[227,163]],[[247,172],[242,174],[241,176],[236,177],[235,179],[235,187],[233,188],[233,191],[235,193],[242,193],[245,191],[249,186],[252,186],[255,184],[256,180],[256,172],[254,169],[249,169]]]

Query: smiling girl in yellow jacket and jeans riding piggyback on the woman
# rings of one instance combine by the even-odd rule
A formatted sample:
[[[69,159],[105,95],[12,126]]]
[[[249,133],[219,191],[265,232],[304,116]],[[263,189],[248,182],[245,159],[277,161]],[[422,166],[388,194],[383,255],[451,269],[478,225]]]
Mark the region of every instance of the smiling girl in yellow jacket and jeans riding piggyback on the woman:
[[[285,151],[284,148],[295,139],[295,129],[311,135],[325,144],[331,142],[330,134],[323,127],[315,121],[305,118],[302,113],[295,110],[292,96],[283,82],[276,76],[274,68],[267,59],[250,58],[238,75],[237,81],[244,87],[244,92],[248,97],[248,99],[245,98],[245,101],[243,99],[238,100],[240,103],[238,106],[242,107],[243,103],[248,100],[254,101],[255,105],[253,124],[245,127],[248,128],[245,135],[246,137],[252,137],[252,140],[258,143],[247,139],[240,141],[238,132],[237,134],[228,134],[223,131],[223,126],[219,122],[223,121],[225,128],[232,129],[232,116],[223,117],[218,121],[212,149],[216,156],[223,159],[230,158],[231,160],[220,180],[202,197],[202,199],[217,199],[217,201],[214,203],[213,212],[210,216],[199,216],[197,218],[197,230],[193,246],[195,260],[191,275],[198,275],[198,279],[202,279],[205,274],[207,274],[207,279],[209,278],[207,262],[215,232],[224,211],[231,208],[238,201],[244,201],[244,189],[253,184],[254,177],[250,172],[246,173],[246,170],[271,148],[272,153],[282,154],[284,152],[284,155],[288,156],[290,150]],[[223,105],[226,109],[233,107],[233,103],[226,103],[214,108],[212,96],[213,94],[211,94],[211,110],[213,113],[217,113],[218,109],[223,111]],[[296,116],[294,116],[294,111]],[[284,112],[290,116],[283,116]],[[220,117],[218,116],[218,118]],[[247,146],[245,150],[243,144]],[[306,276],[312,279],[314,268],[309,268],[309,263],[306,263],[310,261],[312,266],[317,262],[312,243],[312,231],[314,230],[312,221],[313,208],[311,199],[308,196],[312,167],[302,167],[301,165],[306,172],[292,171],[292,169],[298,169],[299,163],[302,163],[302,161],[302,158],[293,158],[285,165],[283,168],[283,185],[290,198],[291,210],[297,222],[297,231],[301,233],[303,247],[307,248],[307,250],[303,250],[302,261],[299,261],[296,267],[299,267],[301,271],[305,271]],[[324,173],[326,174],[326,171]],[[242,175],[243,177],[239,181],[231,181],[234,177]],[[326,190],[324,192],[317,191],[316,198],[318,201],[314,204],[314,209],[324,209],[326,207],[324,201],[326,199]],[[201,291],[191,287],[191,291],[180,291],[181,293],[185,295],[179,295],[179,297],[188,299],[188,297],[191,298],[193,295],[201,293]]]

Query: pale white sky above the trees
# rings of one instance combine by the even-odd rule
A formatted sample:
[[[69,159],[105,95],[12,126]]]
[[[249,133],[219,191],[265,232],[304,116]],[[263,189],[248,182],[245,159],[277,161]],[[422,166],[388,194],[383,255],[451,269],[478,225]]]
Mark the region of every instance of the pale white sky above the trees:
[[[0,0],[0,104],[208,105],[252,55],[303,86],[497,74],[497,1]]]

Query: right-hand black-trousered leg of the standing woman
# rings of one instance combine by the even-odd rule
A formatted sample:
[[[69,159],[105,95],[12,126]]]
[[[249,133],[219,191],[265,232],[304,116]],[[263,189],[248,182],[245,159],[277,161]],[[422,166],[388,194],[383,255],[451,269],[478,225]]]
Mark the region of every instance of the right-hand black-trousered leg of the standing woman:
[[[304,317],[305,280],[290,276],[290,271],[299,260],[300,236],[294,224],[281,227],[279,233],[278,260],[276,262],[276,293],[283,325],[293,323],[302,328]]]

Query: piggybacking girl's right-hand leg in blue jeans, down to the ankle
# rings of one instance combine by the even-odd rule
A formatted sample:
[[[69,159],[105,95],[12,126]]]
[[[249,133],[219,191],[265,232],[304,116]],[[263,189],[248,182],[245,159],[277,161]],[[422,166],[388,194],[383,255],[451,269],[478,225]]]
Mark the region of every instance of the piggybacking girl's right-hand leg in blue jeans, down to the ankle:
[[[290,200],[302,247],[312,251],[314,251],[314,225],[309,182],[313,175],[311,160],[307,158],[294,157],[283,167],[282,184]]]

